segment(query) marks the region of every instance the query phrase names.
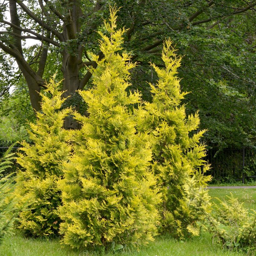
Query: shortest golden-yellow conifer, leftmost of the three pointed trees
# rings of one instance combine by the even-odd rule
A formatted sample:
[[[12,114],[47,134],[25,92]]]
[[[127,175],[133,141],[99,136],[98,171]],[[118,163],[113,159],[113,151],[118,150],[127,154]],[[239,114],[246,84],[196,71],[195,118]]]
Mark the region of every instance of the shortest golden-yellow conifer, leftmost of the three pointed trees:
[[[25,234],[52,237],[58,234],[60,218],[55,212],[61,204],[57,181],[62,178],[62,163],[67,161],[71,146],[66,143],[67,130],[64,118],[71,109],[61,109],[65,98],[57,88],[54,77],[42,97],[42,111],[37,112],[37,121],[30,124],[29,139],[23,141],[17,162],[16,194],[20,202],[29,206],[19,215],[18,227]]]

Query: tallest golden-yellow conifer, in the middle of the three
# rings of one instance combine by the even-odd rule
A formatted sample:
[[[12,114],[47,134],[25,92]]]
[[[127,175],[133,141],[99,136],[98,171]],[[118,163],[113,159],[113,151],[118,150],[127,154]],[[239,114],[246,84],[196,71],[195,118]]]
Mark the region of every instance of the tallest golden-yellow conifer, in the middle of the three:
[[[104,58],[92,55],[98,65],[91,70],[94,87],[80,91],[90,116],[74,114],[81,122],[73,137],[78,147],[59,182],[62,243],[74,248],[147,243],[159,219],[160,194],[147,171],[151,152],[146,135],[135,129],[132,113],[140,94],[126,93],[134,64],[121,52],[125,30],[116,30],[117,10],[110,11],[104,30],[110,37],[99,32]]]

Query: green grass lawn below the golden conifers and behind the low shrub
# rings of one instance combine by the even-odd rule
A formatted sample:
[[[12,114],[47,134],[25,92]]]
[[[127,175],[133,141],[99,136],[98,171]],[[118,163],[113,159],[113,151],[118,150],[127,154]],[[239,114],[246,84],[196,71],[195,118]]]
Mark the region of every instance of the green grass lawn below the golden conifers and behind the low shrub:
[[[212,197],[223,199],[225,195],[232,192],[240,202],[244,202],[244,206],[249,209],[256,209],[256,189],[211,189],[209,194]],[[212,199],[217,201],[216,199]],[[159,236],[154,242],[150,242],[148,246],[140,247],[137,251],[134,248],[126,248],[125,250],[114,253],[113,251],[102,255],[245,255],[240,252],[229,252],[221,248],[219,244],[212,244],[211,235],[204,232],[199,237],[188,239],[185,242],[176,241],[169,236]],[[59,255],[101,255],[95,252],[79,252],[59,244],[59,240],[45,241],[42,239],[25,239],[21,234],[7,237],[0,246],[0,255],[15,256],[59,256]]]

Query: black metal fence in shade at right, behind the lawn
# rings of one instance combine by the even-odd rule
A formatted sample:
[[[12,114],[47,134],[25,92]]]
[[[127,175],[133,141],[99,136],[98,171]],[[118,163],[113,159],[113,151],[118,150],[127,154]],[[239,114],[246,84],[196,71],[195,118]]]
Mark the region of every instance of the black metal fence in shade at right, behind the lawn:
[[[256,150],[243,149],[217,149],[207,150],[205,158],[211,164],[211,169],[206,173],[212,175],[214,180],[230,181],[256,180]]]

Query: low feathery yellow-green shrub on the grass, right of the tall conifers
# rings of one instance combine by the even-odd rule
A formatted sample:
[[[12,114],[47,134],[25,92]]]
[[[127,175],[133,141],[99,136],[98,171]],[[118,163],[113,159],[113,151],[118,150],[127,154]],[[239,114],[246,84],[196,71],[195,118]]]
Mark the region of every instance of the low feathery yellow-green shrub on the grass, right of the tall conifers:
[[[214,204],[208,216],[207,230],[224,247],[244,250],[248,255],[256,252],[256,211],[248,210],[232,193],[226,200]]]

